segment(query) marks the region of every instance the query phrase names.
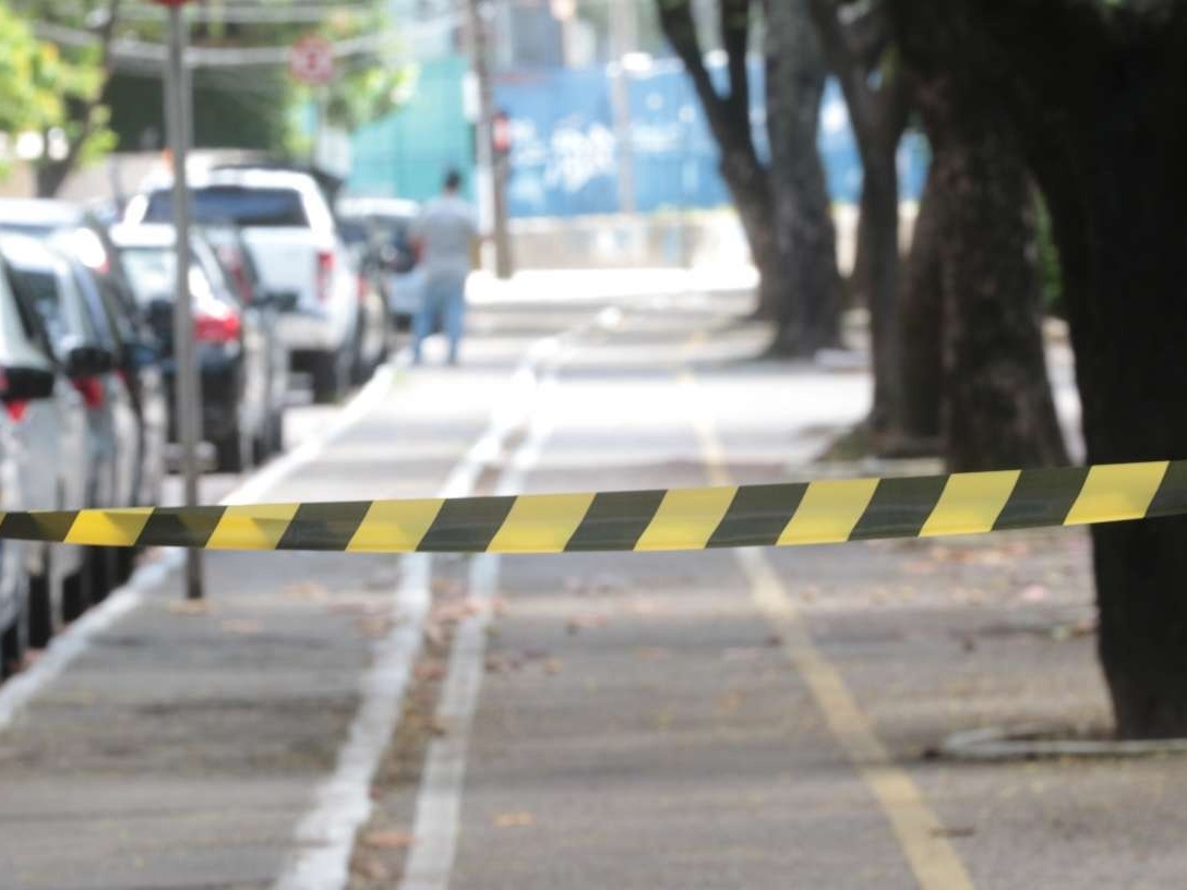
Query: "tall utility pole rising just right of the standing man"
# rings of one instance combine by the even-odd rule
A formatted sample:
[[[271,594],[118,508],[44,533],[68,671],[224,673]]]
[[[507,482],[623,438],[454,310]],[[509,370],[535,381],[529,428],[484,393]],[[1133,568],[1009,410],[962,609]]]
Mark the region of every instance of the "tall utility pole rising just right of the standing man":
[[[512,243],[507,227],[507,173],[510,159],[495,151],[495,88],[490,77],[490,0],[466,0],[470,64],[478,85],[477,166],[488,190],[495,242],[495,275],[512,276]]]

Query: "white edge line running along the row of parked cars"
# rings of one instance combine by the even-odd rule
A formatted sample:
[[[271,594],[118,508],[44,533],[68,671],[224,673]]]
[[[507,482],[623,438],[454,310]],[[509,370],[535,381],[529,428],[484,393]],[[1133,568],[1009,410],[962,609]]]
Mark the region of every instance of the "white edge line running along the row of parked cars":
[[[395,379],[396,365],[406,364],[407,361],[407,350],[401,350],[391,363],[375,371],[367,386],[343,406],[326,427],[250,476],[221,503],[259,500],[277,483],[315,460],[326,445],[341,438],[387,396]],[[153,587],[169,580],[169,577],[180,568],[183,553],[177,548],[164,549],[151,562],[138,568],[122,587],[112,591],[102,603],[56,636],[45,654],[32,667],[0,686],[0,732],[12,724],[30,701],[61,676],[75,659],[87,651],[96,636],[138,609]]]

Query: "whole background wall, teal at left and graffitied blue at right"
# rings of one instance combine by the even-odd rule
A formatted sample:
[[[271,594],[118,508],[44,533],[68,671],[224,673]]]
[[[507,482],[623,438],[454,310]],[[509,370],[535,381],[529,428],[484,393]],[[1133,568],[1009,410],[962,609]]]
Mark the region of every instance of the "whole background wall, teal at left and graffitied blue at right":
[[[462,114],[465,69],[465,59],[457,56],[425,63],[412,101],[355,134],[353,192],[425,198],[438,191],[446,167],[471,171],[472,127]],[[718,81],[724,75],[721,68],[711,74]],[[750,74],[755,141],[766,155],[762,65],[753,65]],[[628,83],[637,209],[729,204],[717,172],[717,146],[683,69],[658,63],[647,74],[631,75]],[[617,144],[605,69],[507,72],[496,82],[495,101],[512,119],[508,199],[513,216],[618,210]],[[821,103],[819,146],[833,201],[856,202],[862,165],[834,82],[827,84]],[[920,135],[908,134],[903,140],[899,170],[902,197],[918,198],[927,171],[927,146]],[[466,183],[472,183],[471,176]]]

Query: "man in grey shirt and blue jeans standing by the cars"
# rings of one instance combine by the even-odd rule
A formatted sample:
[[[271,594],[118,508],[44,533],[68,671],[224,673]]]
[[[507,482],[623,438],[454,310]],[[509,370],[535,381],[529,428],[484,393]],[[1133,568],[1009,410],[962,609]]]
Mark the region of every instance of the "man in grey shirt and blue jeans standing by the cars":
[[[465,279],[477,236],[474,209],[462,197],[462,174],[450,170],[440,196],[425,204],[412,225],[425,282],[420,309],[412,319],[413,364],[420,364],[425,338],[438,325],[449,341],[449,363],[457,364],[465,324]]]

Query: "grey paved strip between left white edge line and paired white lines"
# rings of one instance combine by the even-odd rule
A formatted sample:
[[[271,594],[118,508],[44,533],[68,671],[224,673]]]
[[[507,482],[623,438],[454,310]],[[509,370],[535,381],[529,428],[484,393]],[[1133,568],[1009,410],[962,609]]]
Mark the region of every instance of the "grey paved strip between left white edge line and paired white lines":
[[[506,311],[461,368],[406,373],[267,500],[436,492],[541,331]],[[394,557],[217,553],[209,608],[170,579],[0,731],[0,888],[269,886],[335,767],[386,635]]]

